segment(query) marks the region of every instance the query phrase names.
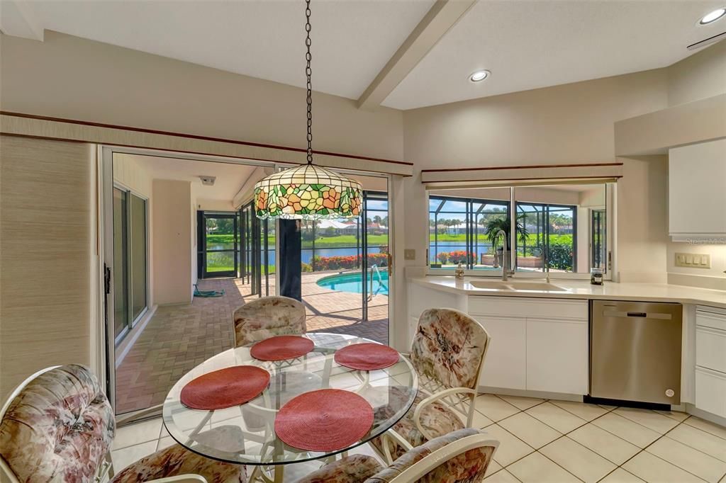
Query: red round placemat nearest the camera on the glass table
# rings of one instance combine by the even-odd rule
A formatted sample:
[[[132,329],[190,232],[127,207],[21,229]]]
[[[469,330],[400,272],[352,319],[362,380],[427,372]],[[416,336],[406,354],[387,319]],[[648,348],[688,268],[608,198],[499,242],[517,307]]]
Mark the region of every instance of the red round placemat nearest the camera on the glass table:
[[[274,418],[277,437],[298,450],[336,451],[364,437],[373,425],[367,400],[341,389],[293,397]]]

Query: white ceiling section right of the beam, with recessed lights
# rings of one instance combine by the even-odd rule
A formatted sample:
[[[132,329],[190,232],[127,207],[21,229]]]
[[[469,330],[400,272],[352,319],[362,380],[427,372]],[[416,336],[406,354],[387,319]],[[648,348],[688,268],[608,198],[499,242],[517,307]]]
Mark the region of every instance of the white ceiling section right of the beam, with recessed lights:
[[[383,102],[398,109],[666,67],[724,0],[479,0]],[[481,83],[468,75],[492,71]]]

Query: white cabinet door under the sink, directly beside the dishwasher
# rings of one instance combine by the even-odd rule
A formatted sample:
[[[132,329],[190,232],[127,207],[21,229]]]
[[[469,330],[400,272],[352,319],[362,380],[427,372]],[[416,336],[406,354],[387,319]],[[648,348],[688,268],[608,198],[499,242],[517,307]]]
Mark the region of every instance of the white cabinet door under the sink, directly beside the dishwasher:
[[[527,318],[526,389],[587,394],[587,321]]]

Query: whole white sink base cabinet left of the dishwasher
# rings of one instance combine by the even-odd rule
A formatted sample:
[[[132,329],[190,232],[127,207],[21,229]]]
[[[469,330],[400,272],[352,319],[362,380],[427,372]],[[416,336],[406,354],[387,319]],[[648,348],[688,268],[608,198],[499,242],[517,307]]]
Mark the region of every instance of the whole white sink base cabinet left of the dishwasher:
[[[587,394],[587,300],[469,297],[492,337],[479,385]]]

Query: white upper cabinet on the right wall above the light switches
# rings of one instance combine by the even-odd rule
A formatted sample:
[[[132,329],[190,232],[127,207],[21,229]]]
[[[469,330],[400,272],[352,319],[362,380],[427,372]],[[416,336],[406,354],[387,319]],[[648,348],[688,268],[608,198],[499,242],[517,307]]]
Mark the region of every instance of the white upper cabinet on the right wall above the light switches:
[[[674,241],[726,243],[726,139],[670,149],[668,195]]]

